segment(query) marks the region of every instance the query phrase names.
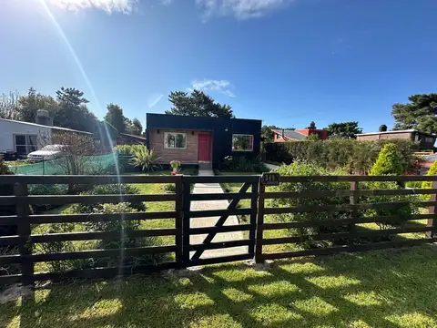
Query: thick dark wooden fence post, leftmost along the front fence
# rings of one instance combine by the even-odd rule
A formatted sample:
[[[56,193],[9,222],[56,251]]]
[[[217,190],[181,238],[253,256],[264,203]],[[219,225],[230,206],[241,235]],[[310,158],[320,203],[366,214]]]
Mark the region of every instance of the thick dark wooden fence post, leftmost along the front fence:
[[[31,235],[30,220],[29,220],[29,202],[27,200],[28,190],[27,183],[18,182],[14,186],[16,216],[17,216],[17,231],[18,236],[21,237],[18,242],[18,250],[20,256],[32,254],[32,245],[29,243],[29,236]],[[33,284],[34,262],[21,259],[21,273],[23,276],[23,285]]]

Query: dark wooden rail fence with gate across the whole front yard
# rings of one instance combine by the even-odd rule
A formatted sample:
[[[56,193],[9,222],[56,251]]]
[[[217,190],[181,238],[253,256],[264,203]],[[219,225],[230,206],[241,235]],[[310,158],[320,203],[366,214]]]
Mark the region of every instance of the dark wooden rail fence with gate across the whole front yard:
[[[430,189],[369,189],[369,184],[362,182],[399,182],[403,186],[409,181],[432,181]],[[7,215],[0,216],[0,229],[15,227],[15,234],[0,236],[0,250],[11,250],[0,255],[0,267],[18,266],[19,273],[0,275],[0,284],[23,282],[25,284],[44,280],[63,280],[69,278],[110,278],[117,275],[137,272],[153,272],[165,269],[179,269],[193,265],[205,265],[228,261],[255,259],[258,262],[284,259],[297,256],[333,254],[342,251],[371,251],[392,247],[420,245],[436,241],[437,225],[437,178],[434,176],[280,176],[281,184],[300,183],[303,188],[295,191],[283,191],[280,188],[264,185],[258,175],[242,176],[0,176],[0,187],[10,185],[14,189],[11,194],[0,196],[0,207],[13,209]],[[311,182],[345,182],[344,190],[309,190],[306,184]],[[168,194],[129,194],[129,195],[29,195],[29,185],[64,184],[79,186],[95,186],[116,183],[172,183],[175,192]],[[191,186],[198,183],[208,186],[210,183],[237,183],[241,187],[225,193],[192,193]],[[343,186],[344,184],[341,184]],[[372,186],[372,185],[370,185]],[[375,201],[373,197],[416,195],[414,206],[428,208],[420,214],[391,215],[391,210],[411,206],[410,201]],[[420,195],[429,195],[423,200]],[[314,199],[315,203],[301,205],[300,200]],[[317,204],[318,200],[335,199],[335,203]],[[403,198],[404,199],[404,198]],[[194,202],[211,202],[228,200],[226,209],[193,210]],[[278,200],[293,200],[293,206],[278,205]],[[80,213],[80,214],[38,214],[33,213],[32,206],[68,204],[103,204],[103,203],[139,203],[139,202],[171,202],[173,209],[165,211],[137,211],[128,213]],[[244,201],[246,206],[241,207]],[[365,202],[368,201],[368,202]],[[249,204],[249,205],[248,205]],[[288,202],[290,204],[290,201]],[[371,210],[381,211],[387,215],[371,215]],[[302,220],[302,215],[334,213],[327,219]],[[295,220],[297,216],[299,220]],[[341,215],[340,218],[336,218]],[[227,224],[229,216],[242,218],[239,224]],[[288,218],[279,220],[279,218]],[[310,217],[310,216],[309,216]],[[193,226],[192,220],[209,220],[215,218],[212,226]],[[131,220],[165,220],[171,228],[114,231],[66,231],[53,233],[34,233],[33,229],[41,224],[98,224],[102,222],[128,222]],[[401,220],[402,226],[388,229],[372,230],[366,224],[387,224]],[[426,225],[418,225],[417,220],[427,220]],[[163,221],[164,222],[164,221]],[[174,224],[173,224],[173,223]],[[229,221],[228,221],[229,222]],[[147,223],[148,224],[148,223]],[[116,225],[117,226],[117,225]],[[166,226],[167,227],[167,226]],[[338,231],[326,232],[323,229],[339,228]],[[87,228],[86,228],[87,229]],[[267,237],[272,232],[285,230],[286,235]],[[296,231],[300,233],[296,234]],[[302,233],[308,231],[308,233]],[[217,241],[218,234],[241,232],[239,240]],[[290,233],[289,233],[290,232]],[[244,234],[243,234],[244,233]],[[293,234],[294,233],[294,234]],[[410,239],[399,239],[399,236],[412,234]],[[420,234],[423,238],[418,238]],[[235,233],[233,233],[235,235]],[[394,238],[396,237],[396,238]],[[417,238],[416,238],[417,237]],[[200,238],[200,242],[191,241]],[[86,250],[44,251],[39,245],[53,245],[62,242],[93,241],[103,245],[117,241],[123,245],[131,240],[165,239],[166,244],[153,246],[136,246]],[[170,241],[171,240],[171,241]],[[328,241],[330,246],[301,249],[306,242]],[[170,243],[170,244],[168,244]],[[271,245],[286,247],[281,252],[269,252]],[[292,247],[287,248],[288,245]],[[294,246],[293,246],[294,245]],[[241,254],[225,255],[223,250],[242,248],[247,251]],[[211,256],[210,253],[214,251]],[[205,256],[206,254],[208,256]],[[168,254],[169,257],[158,257]],[[147,263],[126,264],[120,259],[146,256]],[[167,256],[167,255],[166,255]],[[36,263],[53,261],[77,261],[96,259],[95,267],[67,270],[64,272],[35,272]],[[158,260],[157,260],[158,259]],[[94,260],[93,260],[94,261]],[[101,261],[101,262],[100,262]],[[103,264],[102,264],[103,263]],[[118,263],[118,265],[115,265]]]

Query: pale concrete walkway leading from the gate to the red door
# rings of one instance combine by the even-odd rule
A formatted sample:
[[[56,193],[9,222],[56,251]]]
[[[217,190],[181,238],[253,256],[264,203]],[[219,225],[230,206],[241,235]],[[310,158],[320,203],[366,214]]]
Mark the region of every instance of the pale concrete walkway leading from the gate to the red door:
[[[213,176],[214,172],[211,169],[199,169],[199,176]],[[223,193],[219,183],[196,183],[194,185],[193,193]],[[191,201],[191,210],[225,210],[228,208],[229,202],[228,200],[195,200]],[[201,227],[213,227],[219,217],[210,217],[210,218],[193,218],[190,221],[191,228],[201,228]],[[224,225],[237,225],[239,224],[239,220],[235,215],[229,216],[229,218],[225,221]],[[190,236],[189,242],[191,245],[202,243],[208,234],[203,235],[194,235]],[[220,242],[220,241],[239,241],[243,240],[243,232],[223,232],[218,233],[212,242]],[[248,253],[247,246],[239,246],[232,247],[227,249],[220,250],[208,250],[204,251],[200,259],[208,259],[211,257],[220,257],[220,256],[229,256],[229,255],[237,255],[237,254],[245,254]],[[194,254],[194,251],[191,251],[190,256]]]

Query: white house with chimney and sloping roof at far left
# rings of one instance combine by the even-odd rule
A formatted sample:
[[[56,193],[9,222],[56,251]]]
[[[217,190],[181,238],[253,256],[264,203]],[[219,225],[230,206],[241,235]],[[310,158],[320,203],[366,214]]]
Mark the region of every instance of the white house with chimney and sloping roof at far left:
[[[36,122],[44,124],[0,118],[0,153],[15,152],[16,156],[25,157],[28,153],[52,143],[52,132],[54,131],[92,136],[92,133],[85,131],[50,126],[51,119],[48,118],[46,110],[38,110]]]

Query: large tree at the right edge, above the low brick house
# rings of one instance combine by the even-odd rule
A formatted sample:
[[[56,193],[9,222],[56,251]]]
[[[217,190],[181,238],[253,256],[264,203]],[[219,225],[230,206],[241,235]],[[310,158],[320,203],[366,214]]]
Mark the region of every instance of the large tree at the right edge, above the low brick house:
[[[416,128],[428,133],[437,132],[437,93],[412,95],[408,100],[408,104],[393,105],[393,129]]]

